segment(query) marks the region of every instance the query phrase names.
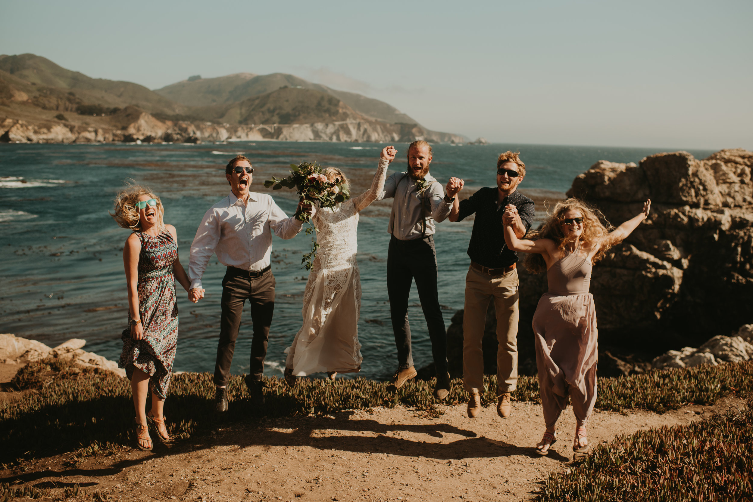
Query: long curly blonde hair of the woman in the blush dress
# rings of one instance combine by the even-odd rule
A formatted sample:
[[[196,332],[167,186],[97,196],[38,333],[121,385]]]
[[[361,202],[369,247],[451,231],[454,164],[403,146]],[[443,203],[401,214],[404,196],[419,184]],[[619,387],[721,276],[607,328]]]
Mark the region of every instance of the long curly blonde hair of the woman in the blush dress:
[[[596,263],[602,259],[611,247],[606,237],[612,229],[612,225],[607,221],[601,211],[595,207],[590,207],[584,201],[577,198],[569,198],[565,201],[557,202],[554,209],[549,214],[549,218],[540,230],[535,231],[530,238],[531,240],[551,239],[557,244],[557,249],[565,249],[571,239],[565,237],[562,231],[562,218],[569,210],[578,210],[583,215],[583,232],[581,233],[581,245],[592,247],[599,246],[596,255],[593,256],[591,263]],[[608,243],[608,244],[607,244]],[[544,262],[544,256],[541,253],[529,253],[523,259],[523,265],[533,274],[541,274],[547,271],[547,263]]]

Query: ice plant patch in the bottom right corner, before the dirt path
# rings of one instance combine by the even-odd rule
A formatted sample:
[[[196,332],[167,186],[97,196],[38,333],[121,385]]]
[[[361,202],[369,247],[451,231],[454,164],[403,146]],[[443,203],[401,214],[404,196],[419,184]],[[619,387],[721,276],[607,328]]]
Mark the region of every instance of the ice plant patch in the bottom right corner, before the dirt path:
[[[751,500],[753,399],[691,425],[614,438],[580,464],[552,473],[542,502]]]

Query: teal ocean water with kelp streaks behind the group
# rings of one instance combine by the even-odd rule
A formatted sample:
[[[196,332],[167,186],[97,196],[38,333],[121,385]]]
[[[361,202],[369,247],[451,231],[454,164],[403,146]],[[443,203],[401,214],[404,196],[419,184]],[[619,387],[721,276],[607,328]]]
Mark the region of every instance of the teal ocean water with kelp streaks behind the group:
[[[55,346],[69,338],[87,340],[86,349],[117,360],[127,326],[127,293],[122,246],[130,231],[108,215],[112,199],[125,180],[145,183],[165,206],[165,222],[178,231],[180,259],[187,268],[191,240],[203,214],[229,192],[224,164],[245,153],[255,166],[253,186],[287,174],[288,165],[318,160],[346,168],[355,185],[366,187],[384,145],[258,142],[188,145],[130,144],[0,144],[0,333],[14,333]],[[407,144],[398,144],[395,170],[401,168]],[[496,157],[520,150],[526,162],[523,192],[566,192],[572,179],[599,159],[639,162],[660,151],[639,148],[561,147],[526,144],[485,146],[437,145],[431,174],[441,183],[462,177],[468,189],[494,186]],[[697,158],[712,153],[691,151]],[[254,189],[254,188],[252,188]],[[277,204],[291,214],[293,193],[273,192]],[[364,212],[358,225],[358,264],[363,298],[358,337],[364,356],[361,373],[383,379],[396,366],[396,352],[386,289],[389,234],[387,214]],[[439,297],[445,324],[462,308],[465,254],[473,222],[443,222],[435,236],[439,264]],[[310,249],[303,231],[294,239],[274,238],[273,272],[276,307],[270,330],[266,372],[281,375],[285,354],[300,327],[300,306],[307,272],[300,256]],[[180,331],[174,370],[214,370],[220,321],[224,267],[212,259],[203,278],[206,298],[192,304],[178,288]],[[431,362],[431,346],[415,286],[410,297],[413,358],[416,367]],[[248,370],[251,347],[248,305],[240,328],[233,373]]]

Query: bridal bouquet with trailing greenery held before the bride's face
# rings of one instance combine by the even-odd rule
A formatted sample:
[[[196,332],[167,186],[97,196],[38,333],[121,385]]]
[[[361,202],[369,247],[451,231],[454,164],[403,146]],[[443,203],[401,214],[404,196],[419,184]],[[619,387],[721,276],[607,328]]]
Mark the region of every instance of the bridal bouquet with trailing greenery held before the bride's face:
[[[279,190],[283,186],[288,189],[295,189],[300,195],[303,204],[319,203],[319,207],[334,207],[340,202],[347,201],[350,198],[350,192],[346,186],[343,186],[342,180],[331,182],[322,173],[322,166],[314,162],[301,162],[299,165],[291,164],[290,176],[278,180],[272,177],[271,180],[264,182],[266,188],[272,187],[273,190]],[[302,222],[308,222],[311,216],[308,213],[299,213],[295,216]],[[306,235],[316,236],[316,227],[313,225],[306,228]],[[316,249],[319,244],[316,238],[311,237],[311,253],[303,255],[300,260],[305,265],[307,271],[314,266],[312,261],[316,255]]]

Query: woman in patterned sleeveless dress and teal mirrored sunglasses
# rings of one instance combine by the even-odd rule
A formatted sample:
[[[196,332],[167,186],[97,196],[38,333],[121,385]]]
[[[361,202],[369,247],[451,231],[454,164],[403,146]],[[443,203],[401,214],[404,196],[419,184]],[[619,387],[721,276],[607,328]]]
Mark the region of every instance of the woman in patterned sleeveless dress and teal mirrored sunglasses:
[[[142,186],[130,186],[115,198],[111,216],[133,234],[123,246],[123,264],[128,285],[128,328],[123,330],[123,352],[118,365],[131,380],[136,446],[150,451],[151,424],[166,442],[169,434],[163,406],[178,342],[178,306],[175,279],[188,291],[191,281],[178,261],[178,234],[165,225],[162,203]],[[151,410],[146,413],[151,390]]]

